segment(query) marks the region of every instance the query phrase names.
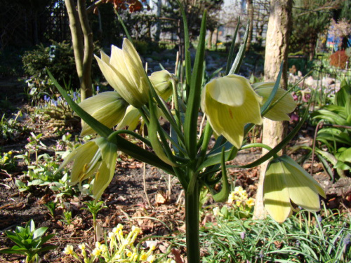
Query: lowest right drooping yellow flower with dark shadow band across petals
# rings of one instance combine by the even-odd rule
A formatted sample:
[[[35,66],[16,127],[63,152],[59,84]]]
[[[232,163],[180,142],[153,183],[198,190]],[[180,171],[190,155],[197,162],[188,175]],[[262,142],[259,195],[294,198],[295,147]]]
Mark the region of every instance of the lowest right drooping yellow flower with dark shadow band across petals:
[[[267,166],[263,183],[263,202],[267,212],[279,223],[292,213],[291,202],[310,211],[320,209],[322,187],[289,156],[273,159]]]

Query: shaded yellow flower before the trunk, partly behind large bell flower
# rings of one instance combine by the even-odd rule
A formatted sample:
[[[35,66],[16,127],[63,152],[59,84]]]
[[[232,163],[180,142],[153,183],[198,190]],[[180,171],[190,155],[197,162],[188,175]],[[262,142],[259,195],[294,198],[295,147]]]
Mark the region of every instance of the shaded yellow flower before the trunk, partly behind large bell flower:
[[[263,97],[262,104],[265,104],[265,102],[268,100],[268,97],[270,97],[270,93],[272,93],[274,82],[254,83],[252,87],[258,95]],[[283,97],[285,93],[286,90],[278,88],[277,93],[275,93],[275,96],[272,100],[272,103]],[[282,100],[279,100],[279,102],[277,102],[277,104],[275,104],[272,109],[270,109],[265,114],[265,118],[272,121],[290,121],[288,114],[293,112],[293,110],[296,108],[296,105],[297,104],[295,100],[293,100],[293,96],[288,93],[282,98]]]

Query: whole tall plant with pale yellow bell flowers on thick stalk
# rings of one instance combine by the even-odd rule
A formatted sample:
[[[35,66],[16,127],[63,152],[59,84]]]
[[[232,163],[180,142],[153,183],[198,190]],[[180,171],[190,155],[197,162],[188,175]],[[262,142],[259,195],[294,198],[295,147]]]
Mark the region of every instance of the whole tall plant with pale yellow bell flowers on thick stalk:
[[[203,83],[206,12],[202,18],[193,65],[188,51],[190,41],[184,12],[183,21],[184,83],[178,83],[177,77],[166,71],[147,76],[131,39],[124,39],[122,48],[112,46],[110,57],[105,53],[101,53],[100,58],[95,57],[102,74],[115,91],[99,93],[77,105],[53,81],[76,114],[86,122],[82,134],[100,135],[74,149],[62,163],[64,166],[74,162],[72,182],[81,183],[93,177],[93,194],[96,199],[100,198],[114,176],[117,150],[178,177],[185,189],[187,262],[198,263],[200,190],[207,187],[215,201],[227,200],[230,185],[226,168],[229,166],[225,163],[234,159],[238,151],[250,147],[270,150],[253,163],[236,167],[252,168],[272,159],[267,168],[264,200],[268,213],[278,222],[291,214],[291,201],[312,211],[319,210],[318,194],[324,196],[324,191],[289,157],[277,156],[279,150],[297,133],[307,114],[274,149],[264,144],[246,142],[251,128],[255,124],[260,125],[263,117],[274,121],[286,120],[289,119],[287,114],[296,107],[293,97],[279,88],[281,74],[276,83],[258,83],[255,86],[237,75],[244,56],[245,41],[236,58],[232,45],[225,76]],[[174,102],[172,110],[165,102],[170,100],[170,96]],[[204,128],[198,126],[199,116],[206,116]],[[170,129],[161,126],[161,118],[169,122]],[[145,137],[133,132],[138,123],[147,126]],[[112,130],[116,125],[117,130]],[[128,129],[123,129],[125,126]],[[120,136],[122,134],[144,142],[150,150],[129,142]],[[216,143],[209,148],[213,136]],[[220,182],[222,189],[217,192],[215,185]]]

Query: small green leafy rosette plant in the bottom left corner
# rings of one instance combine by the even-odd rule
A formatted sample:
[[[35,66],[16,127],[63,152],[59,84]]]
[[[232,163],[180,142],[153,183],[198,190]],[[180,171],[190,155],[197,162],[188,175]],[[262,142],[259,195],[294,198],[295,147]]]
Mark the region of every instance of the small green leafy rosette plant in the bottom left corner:
[[[48,227],[35,229],[34,221],[30,220],[25,227],[16,227],[15,231],[6,231],[6,236],[17,245],[14,245],[12,248],[0,250],[0,253],[21,254],[26,256],[26,263],[38,262],[38,254],[40,252],[56,248],[56,245],[46,245],[43,247],[46,241],[55,236],[54,234],[44,236],[46,230],[48,230]]]

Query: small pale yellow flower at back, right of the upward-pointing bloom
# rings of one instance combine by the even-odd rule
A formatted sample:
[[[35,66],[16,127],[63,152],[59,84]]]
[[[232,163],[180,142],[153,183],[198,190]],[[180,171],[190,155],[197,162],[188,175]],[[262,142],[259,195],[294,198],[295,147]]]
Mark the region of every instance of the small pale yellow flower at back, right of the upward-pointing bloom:
[[[157,94],[164,100],[167,100],[173,93],[171,79],[173,74],[169,73],[167,70],[161,70],[159,72],[153,72],[149,79],[154,86]]]

